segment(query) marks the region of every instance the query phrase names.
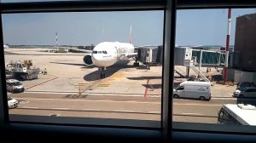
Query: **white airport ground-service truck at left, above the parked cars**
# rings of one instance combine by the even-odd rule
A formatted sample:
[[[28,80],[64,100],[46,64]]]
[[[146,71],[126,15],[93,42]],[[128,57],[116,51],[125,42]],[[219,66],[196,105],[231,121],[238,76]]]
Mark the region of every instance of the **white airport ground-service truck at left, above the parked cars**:
[[[39,68],[32,66],[32,60],[14,61],[11,60],[5,67],[6,75],[18,80],[37,79]]]

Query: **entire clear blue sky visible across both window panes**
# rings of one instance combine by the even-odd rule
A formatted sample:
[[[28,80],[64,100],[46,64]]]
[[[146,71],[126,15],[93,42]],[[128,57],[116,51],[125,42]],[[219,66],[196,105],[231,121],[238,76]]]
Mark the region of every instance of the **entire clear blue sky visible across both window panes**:
[[[177,11],[177,45],[225,45],[227,9]],[[235,41],[236,17],[255,9],[232,9],[230,44]],[[9,44],[90,45],[128,42],[132,26],[135,45],[163,43],[163,11],[3,14],[3,41]]]

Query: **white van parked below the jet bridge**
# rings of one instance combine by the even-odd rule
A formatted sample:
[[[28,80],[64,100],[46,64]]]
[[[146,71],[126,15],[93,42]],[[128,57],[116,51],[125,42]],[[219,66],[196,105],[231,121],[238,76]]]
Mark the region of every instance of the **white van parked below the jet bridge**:
[[[185,81],[173,89],[173,98],[195,98],[199,100],[211,100],[211,83]]]

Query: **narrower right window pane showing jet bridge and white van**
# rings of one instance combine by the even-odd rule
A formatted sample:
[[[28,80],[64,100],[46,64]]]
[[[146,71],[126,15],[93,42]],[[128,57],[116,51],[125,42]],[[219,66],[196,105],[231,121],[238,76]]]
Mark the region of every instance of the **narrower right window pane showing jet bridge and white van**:
[[[173,90],[175,123],[216,124],[224,104],[244,105],[227,108],[236,120],[255,121],[256,95],[237,89],[239,84],[255,89],[255,30],[255,9],[177,10],[173,82],[184,90]],[[225,112],[221,115],[225,120]]]

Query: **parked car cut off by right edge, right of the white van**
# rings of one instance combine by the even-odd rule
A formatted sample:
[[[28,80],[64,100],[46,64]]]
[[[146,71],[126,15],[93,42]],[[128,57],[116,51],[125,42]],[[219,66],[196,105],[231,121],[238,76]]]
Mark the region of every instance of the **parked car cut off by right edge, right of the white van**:
[[[243,97],[256,97],[256,87],[244,87],[236,89],[234,96],[243,98]]]

